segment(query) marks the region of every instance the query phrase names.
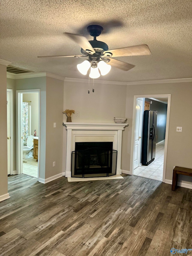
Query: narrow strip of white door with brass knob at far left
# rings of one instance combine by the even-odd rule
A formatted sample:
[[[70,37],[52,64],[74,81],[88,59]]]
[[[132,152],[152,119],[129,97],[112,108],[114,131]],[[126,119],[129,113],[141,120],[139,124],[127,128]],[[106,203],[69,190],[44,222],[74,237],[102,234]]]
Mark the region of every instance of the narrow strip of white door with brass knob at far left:
[[[7,92],[7,174],[11,174],[10,92]]]

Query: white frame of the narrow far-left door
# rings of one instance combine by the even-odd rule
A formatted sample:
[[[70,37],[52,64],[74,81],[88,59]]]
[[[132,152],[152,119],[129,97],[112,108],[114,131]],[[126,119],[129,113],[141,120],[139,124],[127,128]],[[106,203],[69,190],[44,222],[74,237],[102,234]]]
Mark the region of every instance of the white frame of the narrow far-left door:
[[[13,89],[7,88],[7,92],[10,92],[10,175],[13,175]]]

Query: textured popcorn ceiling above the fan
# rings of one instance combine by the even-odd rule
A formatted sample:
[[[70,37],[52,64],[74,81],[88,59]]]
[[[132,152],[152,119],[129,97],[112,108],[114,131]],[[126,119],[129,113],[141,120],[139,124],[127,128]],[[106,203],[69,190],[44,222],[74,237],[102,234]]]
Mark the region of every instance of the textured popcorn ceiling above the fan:
[[[136,65],[130,71],[112,67],[99,80],[143,81],[192,77],[191,0],[1,0],[0,59],[34,72],[82,78],[82,59],[45,58],[78,55],[80,47],[64,32],[92,37],[86,27],[98,24],[97,38],[109,49],[147,44],[149,56],[118,57]]]

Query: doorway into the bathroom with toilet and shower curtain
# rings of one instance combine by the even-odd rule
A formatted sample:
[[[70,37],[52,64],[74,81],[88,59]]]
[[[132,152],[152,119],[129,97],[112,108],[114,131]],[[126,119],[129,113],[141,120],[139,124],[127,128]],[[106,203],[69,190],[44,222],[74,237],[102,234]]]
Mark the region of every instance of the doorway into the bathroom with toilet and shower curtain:
[[[40,89],[16,91],[17,174],[39,177]]]

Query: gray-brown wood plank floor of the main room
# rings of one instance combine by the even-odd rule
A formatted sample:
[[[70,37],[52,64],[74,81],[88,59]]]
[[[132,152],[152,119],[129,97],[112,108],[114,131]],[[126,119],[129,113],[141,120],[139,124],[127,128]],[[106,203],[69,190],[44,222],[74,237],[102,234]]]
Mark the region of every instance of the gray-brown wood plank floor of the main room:
[[[9,176],[10,199],[0,203],[0,255],[167,256],[171,248],[192,248],[192,190],[122,176],[47,184]]]

